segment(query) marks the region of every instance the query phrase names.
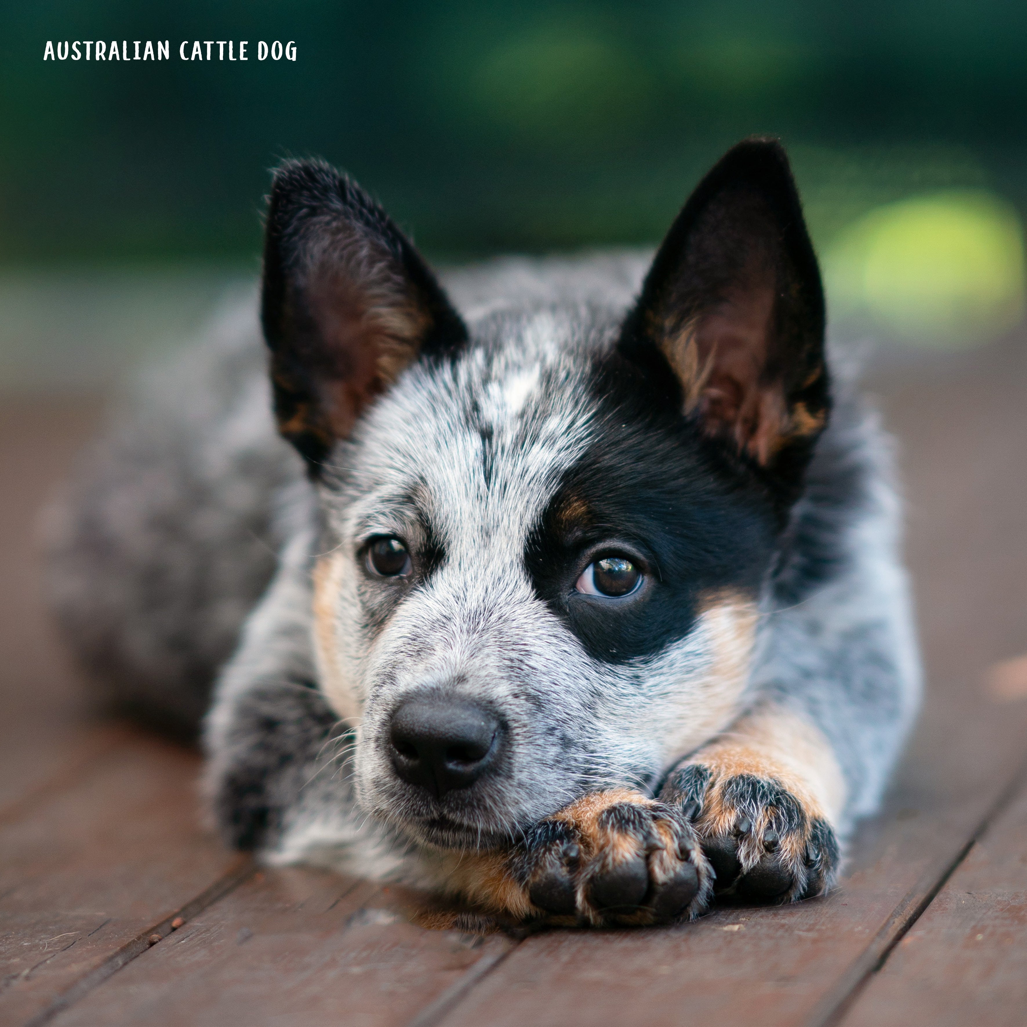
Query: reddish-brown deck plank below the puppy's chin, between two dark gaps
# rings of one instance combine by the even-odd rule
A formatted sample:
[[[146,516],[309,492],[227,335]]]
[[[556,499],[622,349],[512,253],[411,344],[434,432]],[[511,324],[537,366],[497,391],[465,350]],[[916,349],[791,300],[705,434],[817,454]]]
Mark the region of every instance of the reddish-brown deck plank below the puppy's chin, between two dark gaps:
[[[425,930],[416,893],[265,870],[62,1016],[74,1025],[407,1024],[492,966],[500,936]]]

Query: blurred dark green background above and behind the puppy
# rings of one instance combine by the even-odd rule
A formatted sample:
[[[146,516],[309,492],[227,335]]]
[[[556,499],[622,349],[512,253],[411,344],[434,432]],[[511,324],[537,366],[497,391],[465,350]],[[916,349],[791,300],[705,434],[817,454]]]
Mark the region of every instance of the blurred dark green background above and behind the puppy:
[[[43,61],[76,39],[172,60]],[[182,62],[194,39],[251,60]],[[298,60],[257,61],[275,39]],[[452,262],[655,243],[753,132],[792,153],[837,330],[976,344],[1023,314],[1025,44],[998,0],[8,2],[0,374],[100,381],[193,327],[256,273],[283,156],[347,168]]]

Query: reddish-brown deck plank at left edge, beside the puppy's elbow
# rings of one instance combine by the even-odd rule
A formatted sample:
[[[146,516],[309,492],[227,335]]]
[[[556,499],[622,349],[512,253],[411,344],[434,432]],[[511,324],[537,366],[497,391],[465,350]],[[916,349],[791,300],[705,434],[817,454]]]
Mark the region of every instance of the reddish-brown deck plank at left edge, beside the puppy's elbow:
[[[0,1022],[22,1023],[231,873],[198,825],[198,757],[143,735],[0,825]]]

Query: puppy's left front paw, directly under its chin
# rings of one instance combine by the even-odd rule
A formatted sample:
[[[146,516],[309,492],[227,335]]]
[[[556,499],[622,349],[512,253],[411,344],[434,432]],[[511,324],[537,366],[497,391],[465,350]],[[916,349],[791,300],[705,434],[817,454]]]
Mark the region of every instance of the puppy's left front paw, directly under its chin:
[[[688,822],[626,789],[586,795],[543,821],[510,870],[550,920],[596,925],[695,916],[713,881]]]

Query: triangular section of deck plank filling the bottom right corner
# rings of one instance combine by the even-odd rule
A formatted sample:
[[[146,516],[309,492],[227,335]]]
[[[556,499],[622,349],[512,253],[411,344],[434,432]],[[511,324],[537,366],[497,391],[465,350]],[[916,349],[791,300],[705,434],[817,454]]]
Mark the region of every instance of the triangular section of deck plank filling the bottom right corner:
[[[1027,1016],[1027,788],[869,981],[845,1027],[1020,1027]]]

